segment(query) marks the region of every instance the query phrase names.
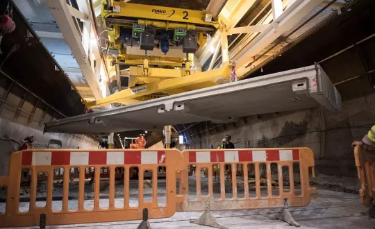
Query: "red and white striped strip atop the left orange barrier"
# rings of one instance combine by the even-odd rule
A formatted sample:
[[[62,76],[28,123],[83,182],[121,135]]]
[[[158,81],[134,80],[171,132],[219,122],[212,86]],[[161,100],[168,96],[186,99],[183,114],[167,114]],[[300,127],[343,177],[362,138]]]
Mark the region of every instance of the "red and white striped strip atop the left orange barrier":
[[[24,151],[22,165],[165,164],[165,151]]]

